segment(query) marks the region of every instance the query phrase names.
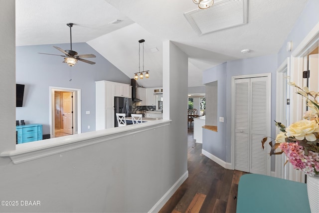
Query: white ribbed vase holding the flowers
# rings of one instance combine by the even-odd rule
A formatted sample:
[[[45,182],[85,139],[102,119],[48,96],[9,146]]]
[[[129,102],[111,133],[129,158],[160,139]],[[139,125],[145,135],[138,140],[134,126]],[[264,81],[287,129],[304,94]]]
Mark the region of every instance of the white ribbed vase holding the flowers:
[[[312,213],[319,213],[319,175],[307,176],[307,191]]]

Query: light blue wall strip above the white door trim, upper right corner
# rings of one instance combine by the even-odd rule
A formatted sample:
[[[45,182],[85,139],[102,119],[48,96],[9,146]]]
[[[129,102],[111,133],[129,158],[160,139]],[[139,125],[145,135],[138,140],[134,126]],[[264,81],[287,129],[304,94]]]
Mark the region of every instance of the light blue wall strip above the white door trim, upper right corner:
[[[288,34],[287,39],[278,53],[278,66],[281,65],[287,57],[290,57],[300,42],[319,22],[319,0],[309,0],[302,14],[295,23],[294,28]],[[292,41],[292,51],[287,52],[286,44]]]

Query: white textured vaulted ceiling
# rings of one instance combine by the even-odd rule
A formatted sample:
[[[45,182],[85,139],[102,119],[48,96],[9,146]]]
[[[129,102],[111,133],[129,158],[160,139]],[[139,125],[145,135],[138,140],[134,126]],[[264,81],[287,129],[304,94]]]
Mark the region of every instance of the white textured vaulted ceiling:
[[[198,36],[183,13],[192,0],[15,0],[16,45],[87,42],[130,78],[138,71],[145,39],[145,87],[162,85],[162,41],[189,56],[188,86],[202,85],[202,71],[225,61],[277,53],[307,0],[248,0],[247,24]],[[223,0],[215,0],[215,4]],[[121,19],[119,24],[109,22]],[[157,47],[159,52],[151,52]],[[242,54],[242,49],[251,49]],[[52,54],[57,54],[52,48]],[[54,56],[52,56],[54,57]],[[79,66],[81,63],[76,64]],[[94,66],[94,65],[92,65]]]

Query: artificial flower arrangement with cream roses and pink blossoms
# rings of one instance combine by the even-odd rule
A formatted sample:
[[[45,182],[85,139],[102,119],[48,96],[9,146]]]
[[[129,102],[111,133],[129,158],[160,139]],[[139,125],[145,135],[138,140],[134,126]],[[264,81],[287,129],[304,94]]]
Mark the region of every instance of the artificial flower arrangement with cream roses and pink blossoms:
[[[294,169],[305,172],[309,176],[319,174],[319,92],[309,91],[308,87],[301,88],[295,82],[288,82],[297,88],[297,94],[302,95],[307,100],[309,111],[304,115],[305,120],[297,121],[286,127],[282,123],[276,122],[280,129],[275,139],[269,143],[272,147],[270,155],[286,154],[287,161]],[[262,148],[268,137],[262,140]],[[279,148],[280,152],[275,150]]]

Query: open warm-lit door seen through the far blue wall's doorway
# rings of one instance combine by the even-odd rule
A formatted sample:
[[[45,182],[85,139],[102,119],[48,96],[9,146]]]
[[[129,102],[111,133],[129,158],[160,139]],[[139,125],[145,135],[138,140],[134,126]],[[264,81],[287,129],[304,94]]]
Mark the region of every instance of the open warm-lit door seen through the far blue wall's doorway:
[[[73,134],[72,92],[63,92],[63,132]]]

